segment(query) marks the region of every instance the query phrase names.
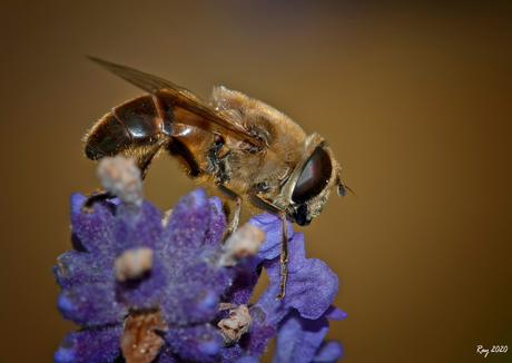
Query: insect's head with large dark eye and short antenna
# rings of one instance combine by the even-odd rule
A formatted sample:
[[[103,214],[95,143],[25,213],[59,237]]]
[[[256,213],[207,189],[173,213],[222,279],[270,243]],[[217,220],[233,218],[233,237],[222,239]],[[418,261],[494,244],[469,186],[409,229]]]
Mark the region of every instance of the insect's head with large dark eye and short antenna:
[[[345,186],[339,182],[341,169],[327,141],[317,134],[311,135],[284,188],[284,195],[288,196],[287,218],[307,226],[322,212],[333,187],[337,186],[343,196]]]

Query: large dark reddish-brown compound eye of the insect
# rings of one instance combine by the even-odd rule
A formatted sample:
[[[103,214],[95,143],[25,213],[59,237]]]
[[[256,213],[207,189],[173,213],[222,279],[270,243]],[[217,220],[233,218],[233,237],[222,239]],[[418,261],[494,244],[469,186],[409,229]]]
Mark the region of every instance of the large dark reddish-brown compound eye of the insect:
[[[301,173],[297,184],[295,184],[292,200],[304,203],[316,197],[324,190],[332,173],[333,165],[328,154],[323,147],[317,146]]]

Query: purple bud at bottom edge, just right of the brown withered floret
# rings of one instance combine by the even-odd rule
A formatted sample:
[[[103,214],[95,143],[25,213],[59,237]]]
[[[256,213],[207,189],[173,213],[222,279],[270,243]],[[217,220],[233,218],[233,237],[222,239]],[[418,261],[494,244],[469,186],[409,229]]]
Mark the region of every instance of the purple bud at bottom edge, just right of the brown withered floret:
[[[165,339],[181,359],[199,362],[213,362],[223,345],[219,331],[209,324],[169,327]]]

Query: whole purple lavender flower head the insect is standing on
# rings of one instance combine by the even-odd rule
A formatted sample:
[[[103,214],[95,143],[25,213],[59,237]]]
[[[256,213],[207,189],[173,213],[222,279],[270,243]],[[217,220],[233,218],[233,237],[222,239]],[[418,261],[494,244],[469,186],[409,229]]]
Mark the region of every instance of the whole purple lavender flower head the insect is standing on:
[[[117,186],[119,187],[119,186]],[[137,192],[137,190],[136,190]],[[280,219],[263,214],[223,245],[220,200],[201,189],[181,197],[168,219],[130,190],[129,200],[71,195],[73,249],[53,266],[58,307],[82,328],[53,354],[68,362],[257,362],[277,334],[275,362],[335,362],[339,342],[323,342],[338,287],[323,262],[305,258],[304,235],[288,224],[286,296],[279,288]],[[253,239],[253,242],[250,242]],[[247,243],[249,242],[249,243]],[[257,252],[257,253],[256,253]],[[248,301],[260,268],[268,288]]]

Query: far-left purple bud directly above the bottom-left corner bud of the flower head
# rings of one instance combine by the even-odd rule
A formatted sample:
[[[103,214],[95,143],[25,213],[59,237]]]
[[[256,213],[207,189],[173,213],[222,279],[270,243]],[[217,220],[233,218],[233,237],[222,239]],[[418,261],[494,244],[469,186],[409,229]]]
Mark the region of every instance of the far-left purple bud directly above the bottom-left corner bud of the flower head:
[[[126,308],[116,301],[112,283],[96,283],[62,290],[57,306],[63,318],[81,326],[120,323]]]

